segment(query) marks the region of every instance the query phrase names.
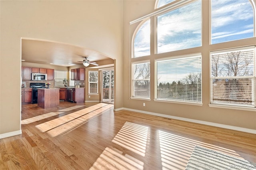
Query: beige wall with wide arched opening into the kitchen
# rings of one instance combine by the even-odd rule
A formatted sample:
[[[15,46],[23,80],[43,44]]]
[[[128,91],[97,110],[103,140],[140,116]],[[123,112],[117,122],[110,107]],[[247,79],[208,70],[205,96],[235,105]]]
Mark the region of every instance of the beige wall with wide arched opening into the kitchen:
[[[0,134],[20,130],[21,38],[93,49],[122,65],[122,0],[0,1],[0,15]],[[116,88],[122,91],[122,81]]]

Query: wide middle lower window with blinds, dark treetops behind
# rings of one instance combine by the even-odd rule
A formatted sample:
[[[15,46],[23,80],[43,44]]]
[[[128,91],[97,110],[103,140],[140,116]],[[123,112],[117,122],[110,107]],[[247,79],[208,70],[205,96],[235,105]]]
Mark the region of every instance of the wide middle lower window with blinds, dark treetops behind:
[[[202,103],[201,54],[156,59],[155,100]]]

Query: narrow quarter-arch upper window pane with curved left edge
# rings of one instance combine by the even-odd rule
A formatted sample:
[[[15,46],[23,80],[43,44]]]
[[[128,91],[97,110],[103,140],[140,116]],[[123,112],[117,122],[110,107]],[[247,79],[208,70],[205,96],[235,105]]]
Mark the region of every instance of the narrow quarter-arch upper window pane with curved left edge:
[[[150,55],[150,20],[140,26],[134,38],[134,57]]]

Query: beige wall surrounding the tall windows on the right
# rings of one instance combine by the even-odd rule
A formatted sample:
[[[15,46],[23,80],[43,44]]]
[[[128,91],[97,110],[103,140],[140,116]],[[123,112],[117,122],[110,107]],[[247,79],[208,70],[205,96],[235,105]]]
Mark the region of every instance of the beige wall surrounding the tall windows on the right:
[[[131,97],[131,72],[130,63],[132,61],[138,61],[138,58],[130,59],[130,40],[136,27],[139,23],[136,23],[129,27],[129,23],[137,18],[150,14],[154,11],[155,1],[124,1],[124,107],[128,109],[135,109],[139,111],[159,113],[173,117],[194,119],[198,121],[217,123],[222,125],[230,125],[234,127],[256,129],[256,112],[244,111],[235,109],[221,109],[209,107],[210,103],[210,51],[218,49],[226,49],[232,47],[241,47],[248,45],[255,45],[256,38],[249,38],[246,40],[238,40],[234,42],[220,43],[215,45],[209,45],[210,42],[210,24],[209,24],[209,10],[210,1],[203,0],[203,32],[202,32],[202,47],[196,47],[193,49],[185,49],[181,51],[174,51],[169,53],[162,53],[159,55],[152,54],[148,57],[142,57],[142,60],[150,59],[150,101],[130,99]],[[132,13],[130,11],[133,11]],[[151,18],[151,23],[154,25],[154,17]],[[153,27],[151,27],[153,30]],[[154,39],[151,39],[154,41]],[[151,45],[151,49],[152,49]],[[176,55],[185,55],[191,53],[202,53],[202,106],[185,105],[175,103],[164,103],[154,101],[154,59],[162,57],[170,57]],[[129,63],[129,64],[128,64]],[[143,107],[143,103],[146,104]]]

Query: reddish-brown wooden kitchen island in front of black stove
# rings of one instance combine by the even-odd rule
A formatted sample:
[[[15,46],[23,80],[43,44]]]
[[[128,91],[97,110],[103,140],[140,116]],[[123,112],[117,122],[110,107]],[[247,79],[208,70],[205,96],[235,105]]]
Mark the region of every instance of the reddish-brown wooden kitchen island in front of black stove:
[[[44,89],[38,88],[38,103],[39,107],[44,109],[57,107],[60,104],[59,95],[60,95],[59,88],[52,88],[52,89]]]

